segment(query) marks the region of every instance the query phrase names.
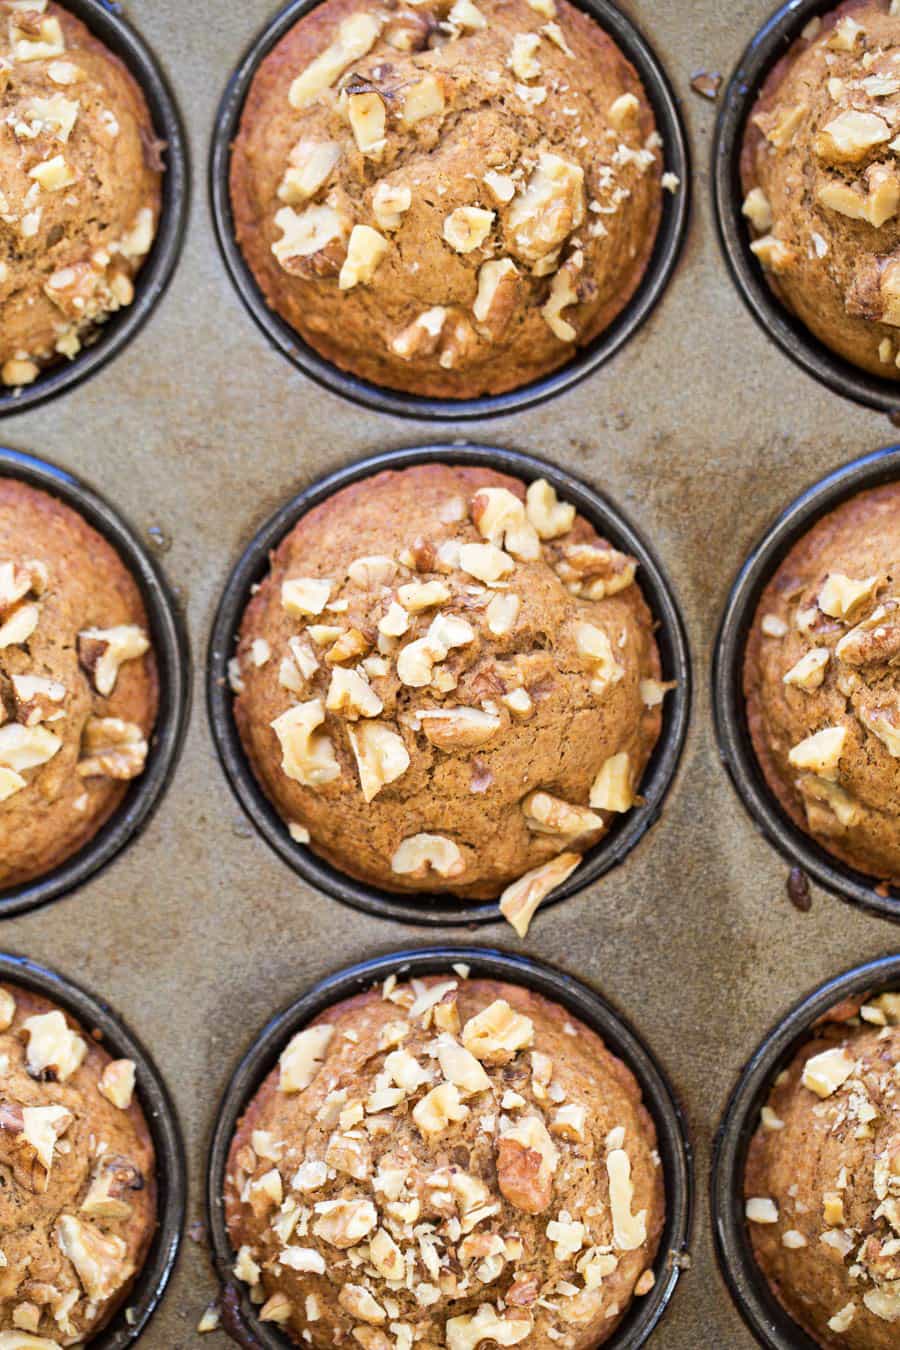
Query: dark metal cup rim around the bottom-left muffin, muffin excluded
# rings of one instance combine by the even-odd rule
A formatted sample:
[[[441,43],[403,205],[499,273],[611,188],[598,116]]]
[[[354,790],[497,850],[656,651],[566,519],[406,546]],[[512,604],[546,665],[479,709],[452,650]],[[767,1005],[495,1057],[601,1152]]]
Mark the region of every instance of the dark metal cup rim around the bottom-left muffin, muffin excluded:
[[[78,984],[24,956],[0,954],[0,980],[40,994],[66,1008],[85,1034],[100,1033],[113,1058],[134,1060],[138,1100],[157,1154],[157,1228],[147,1258],[112,1322],[90,1338],[90,1350],[125,1350],[144,1331],[175,1268],[185,1226],[188,1179],[181,1130],[166,1085],[154,1061],[116,1013]]]

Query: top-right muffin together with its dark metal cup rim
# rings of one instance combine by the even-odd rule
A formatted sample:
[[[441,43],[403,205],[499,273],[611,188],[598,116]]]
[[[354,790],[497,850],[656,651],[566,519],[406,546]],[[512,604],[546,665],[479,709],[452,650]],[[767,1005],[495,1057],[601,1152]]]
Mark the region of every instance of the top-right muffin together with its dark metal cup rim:
[[[881,0],[784,5],[731,77],[714,147],[719,235],[750,310],[810,374],[885,412],[900,406],[899,42]]]

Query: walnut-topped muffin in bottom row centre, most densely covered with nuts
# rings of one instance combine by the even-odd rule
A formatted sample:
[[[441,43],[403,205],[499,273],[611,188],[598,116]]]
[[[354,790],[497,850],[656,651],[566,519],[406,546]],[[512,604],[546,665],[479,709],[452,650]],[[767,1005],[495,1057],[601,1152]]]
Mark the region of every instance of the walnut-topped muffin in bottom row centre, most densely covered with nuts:
[[[239,1122],[235,1274],[298,1343],[592,1350],[653,1287],[631,1072],[557,1004],[463,975],[329,1008]]]

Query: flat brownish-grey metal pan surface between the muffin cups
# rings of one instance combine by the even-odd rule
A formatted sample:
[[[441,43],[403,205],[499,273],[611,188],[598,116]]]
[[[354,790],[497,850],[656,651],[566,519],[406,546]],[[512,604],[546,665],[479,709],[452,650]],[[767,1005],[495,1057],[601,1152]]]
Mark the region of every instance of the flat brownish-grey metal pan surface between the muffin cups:
[[[738,568],[775,516],[831,468],[896,439],[887,417],[830,393],[762,332],[719,254],[708,165],[716,107],[698,69],[727,76],[775,5],[622,0],[664,63],[692,143],[694,211],[679,269],[631,342],[576,389],[467,437],[536,454],[607,494],[658,555],[695,671],[687,748],[661,819],[594,886],[506,925],[421,929],[320,895],[255,833],[221,772],[202,707],[202,662],[225,579],[260,525],[324,474],[459,428],[378,416],[300,375],[256,329],[221,262],[205,165],[228,76],[270,0],[131,0],[166,72],[194,166],[173,284],[147,325],[89,382],[0,421],[4,444],[78,474],[159,549],[190,628],[196,702],[174,783],[131,846],[77,892],[4,923],[3,946],[109,1002],[147,1045],[185,1133],[189,1223],[202,1219],[206,1146],[221,1094],[258,1029],[312,983],[371,956],[443,941],[526,950],[596,987],[658,1057],[696,1154],[692,1268],[653,1335],[664,1350],[750,1350],[715,1270],[706,1204],[710,1142],[734,1080],[777,1018],[826,977],[897,949],[897,929],[812,887],[787,896],[722,768],[710,659]],[[205,1345],[208,1253],[185,1241],[148,1350]]]

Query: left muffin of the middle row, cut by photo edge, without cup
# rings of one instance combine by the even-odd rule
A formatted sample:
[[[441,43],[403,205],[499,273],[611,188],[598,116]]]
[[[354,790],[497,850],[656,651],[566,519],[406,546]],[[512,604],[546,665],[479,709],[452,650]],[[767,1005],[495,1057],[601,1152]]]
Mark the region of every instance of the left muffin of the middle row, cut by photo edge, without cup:
[[[69,506],[0,478],[0,891],[97,833],[143,771],[157,702],[119,555]]]

